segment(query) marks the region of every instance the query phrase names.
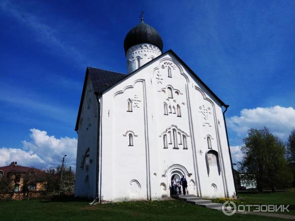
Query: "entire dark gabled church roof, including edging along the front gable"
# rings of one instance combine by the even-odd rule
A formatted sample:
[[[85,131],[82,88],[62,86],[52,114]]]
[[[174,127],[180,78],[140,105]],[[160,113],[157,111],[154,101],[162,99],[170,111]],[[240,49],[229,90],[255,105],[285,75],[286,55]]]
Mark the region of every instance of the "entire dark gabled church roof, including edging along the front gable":
[[[217,95],[214,94],[214,92],[206,85],[206,83],[204,83],[198,77],[198,75],[196,75],[196,73],[192,69],[190,69],[190,67],[187,66],[187,64],[184,63],[184,61],[177,54],[175,54],[175,52],[172,51],[171,49],[168,50],[167,52],[165,52],[164,54],[156,57],[155,59],[152,59],[149,62],[152,62],[158,58],[161,58],[169,53],[174,55],[182,63],[182,65],[205,87],[205,89],[220,103],[221,106],[228,107],[228,105],[226,105],[219,97],[217,97]],[[140,68],[136,69],[135,71],[133,71],[132,73],[130,73],[128,75],[117,73],[117,72],[112,72],[112,71],[101,70],[101,69],[97,69],[97,68],[87,67],[75,131],[78,131],[79,118],[80,118],[80,114],[81,114],[81,110],[82,110],[82,106],[83,106],[83,100],[84,100],[84,95],[85,95],[85,90],[86,90],[86,83],[87,83],[89,76],[90,76],[92,85],[94,87],[94,92],[96,94],[102,93],[110,86],[113,86],[119,82],[122,82],[127,76],[132,75],[133,73],[142,70],[143,68],[145,68],[146,66],[149,65],[149,62],[144,64],[143,66],[141,66]]]

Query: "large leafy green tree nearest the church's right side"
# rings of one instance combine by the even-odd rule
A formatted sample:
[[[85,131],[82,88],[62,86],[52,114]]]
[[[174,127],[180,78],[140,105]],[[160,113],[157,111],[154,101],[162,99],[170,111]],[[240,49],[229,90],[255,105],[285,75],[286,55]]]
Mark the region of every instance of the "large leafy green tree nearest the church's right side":
[[[286,160],[286,148],[280,138],[273,136],[265,127],[262,130],[250,129],[243,139],[244,154],[239,170],[246,179],[256,180],[259,191],[290,186],[292,176]]]

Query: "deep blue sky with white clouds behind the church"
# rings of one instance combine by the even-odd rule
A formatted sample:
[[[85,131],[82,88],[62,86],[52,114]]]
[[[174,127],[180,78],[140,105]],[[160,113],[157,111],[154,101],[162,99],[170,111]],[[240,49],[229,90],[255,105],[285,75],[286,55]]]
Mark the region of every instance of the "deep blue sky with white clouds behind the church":
[[[141,10],[163,51],[230,105],[235,161],[249,128],[286,140],[295,127],[295,1],[0,0],[0,166],[55,166],[66,152],[74,164],[86,67],[126,73],[123,40]]]

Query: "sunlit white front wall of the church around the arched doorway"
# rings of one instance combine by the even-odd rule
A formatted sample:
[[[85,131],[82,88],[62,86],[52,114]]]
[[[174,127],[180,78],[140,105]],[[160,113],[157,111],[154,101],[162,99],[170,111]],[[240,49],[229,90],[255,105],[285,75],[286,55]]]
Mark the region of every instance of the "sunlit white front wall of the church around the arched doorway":
[[[172,78],[168,77],[168,68]],[[173,89],[173,98],[168,98],[167,87]],[[127,112],[128,99],[133,102],[132,112]],[[178,104],[181,117],[176,113],[164,115],[164,102],[172,107]],[[204,110],[208,112],[206,120]],[[101,117],[99,192],[103,200],[159,199],[169,195],[171,176],[176,173],[185,175],[192,194],[233,195],[220,104],[173,55],[153,59],[144,69],[106,90],[101,99]],[[177,149],[173,144],[164,148],[163,135],[172,129],[187,135],[187,149],[179,142]],[[133,146],[128,146],[129,133],[133,135]],[[212,150],[218,154],[220,172],[217,166],[209,166],[208,174],[207,135]],[[79,144],[84,143],[80,139],[79,129],[78,154]]]

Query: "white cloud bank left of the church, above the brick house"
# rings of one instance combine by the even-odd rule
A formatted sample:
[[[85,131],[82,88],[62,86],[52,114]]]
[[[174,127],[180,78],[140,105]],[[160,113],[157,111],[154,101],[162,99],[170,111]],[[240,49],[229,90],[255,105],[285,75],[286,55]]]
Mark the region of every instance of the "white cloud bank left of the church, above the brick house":
[[[62,157],[66,154],[66,165],[76,165],[77,139],[55,138],[47,135],[46,131],[30,129],[29,141],[22,141],[23,148],[0,148],[0,166],[17,161],[22,166],[35,166],[48,168],[61,164]]]

